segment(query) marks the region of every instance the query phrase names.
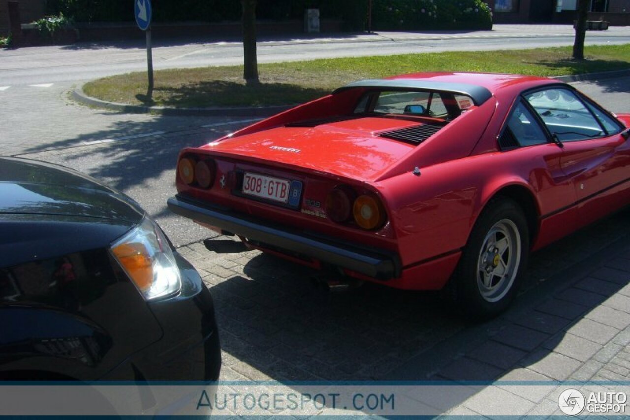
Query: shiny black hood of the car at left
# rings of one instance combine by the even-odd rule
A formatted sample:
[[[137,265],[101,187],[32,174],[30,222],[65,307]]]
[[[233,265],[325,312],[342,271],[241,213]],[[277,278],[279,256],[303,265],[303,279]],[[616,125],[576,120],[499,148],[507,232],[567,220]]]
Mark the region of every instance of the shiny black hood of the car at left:
[[[0,267],[108,247],[144,210],[66,167],[0,157]]]

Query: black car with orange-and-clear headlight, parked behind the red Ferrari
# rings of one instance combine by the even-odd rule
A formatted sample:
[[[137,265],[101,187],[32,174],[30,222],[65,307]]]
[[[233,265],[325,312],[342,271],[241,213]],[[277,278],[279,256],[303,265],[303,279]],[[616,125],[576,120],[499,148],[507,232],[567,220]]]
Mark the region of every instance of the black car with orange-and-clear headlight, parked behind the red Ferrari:
[[[209,290],[140,206],[0,157],[0,379],[216,380]]]

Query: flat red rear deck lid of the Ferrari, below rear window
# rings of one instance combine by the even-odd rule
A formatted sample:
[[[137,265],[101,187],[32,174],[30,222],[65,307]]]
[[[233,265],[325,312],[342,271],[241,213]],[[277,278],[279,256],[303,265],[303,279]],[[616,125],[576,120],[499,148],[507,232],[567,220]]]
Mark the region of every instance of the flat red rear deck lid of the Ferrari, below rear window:
[[[396,135],[399,130],[422,126],[417,121],[372,117],[292,123],[223,139],[202,149],[248,161],[271,161],[370,181],[437,132],[428,130],[428,137],[415,140]]]

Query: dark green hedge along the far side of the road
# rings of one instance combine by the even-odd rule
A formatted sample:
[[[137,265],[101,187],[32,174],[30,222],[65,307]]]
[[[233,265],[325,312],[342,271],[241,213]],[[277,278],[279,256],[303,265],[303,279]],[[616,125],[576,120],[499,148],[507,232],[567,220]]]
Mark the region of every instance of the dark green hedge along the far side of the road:
[[[135,0],[48,0],[48,13],[77,22],[134,21]],[[153,20],[238,21],[239,0],[152,0]],[[367,29],[368,0],[258,0],[256,17],[302,19],[307,8],[342,19],[347,30]],[[490,8],[481,0],[372,0],[372,30],[489,29]]]

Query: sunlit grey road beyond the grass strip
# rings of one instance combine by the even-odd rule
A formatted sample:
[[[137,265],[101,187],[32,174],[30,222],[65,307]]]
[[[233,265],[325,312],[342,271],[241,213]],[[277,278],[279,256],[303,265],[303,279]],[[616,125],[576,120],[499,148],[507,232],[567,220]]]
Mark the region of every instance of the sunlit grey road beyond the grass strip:
[[[340,34],[309,38],[261,37],[258,62],[321,58],[411,54],[418,52],[478,51],[572,45],[569,25],[495,25],[492,31],[445,31]],[[588,31],[586,45],[630,42],[630,27]],[[154,40],[155,69],[242,64],[238,40],[186,42]],[[0,89],[23,84],[76,82],[146,70],[141,42],[77,43],[59,47],[19,48],[0,51]]]

